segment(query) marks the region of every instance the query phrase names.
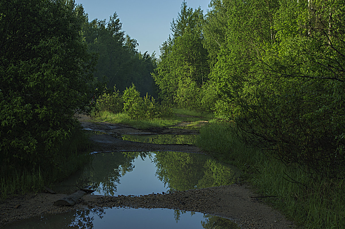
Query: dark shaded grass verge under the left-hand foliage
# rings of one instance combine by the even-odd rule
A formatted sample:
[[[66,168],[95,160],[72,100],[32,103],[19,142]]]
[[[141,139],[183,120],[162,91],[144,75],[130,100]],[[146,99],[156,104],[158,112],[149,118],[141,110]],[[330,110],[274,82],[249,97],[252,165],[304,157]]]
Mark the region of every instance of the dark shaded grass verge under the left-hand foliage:
[[[46,163],[46,165],[34,166],[29,169],[18,166],[10,171],[2,169],[0,199],[42,191],[45,186],[52,187],[57,184],[91,162],[92,157],[87,152],[88,146],[87,136],[78,130],[69,140],[61,144],[59,152],[54,158],[57,163],[55,166]]]

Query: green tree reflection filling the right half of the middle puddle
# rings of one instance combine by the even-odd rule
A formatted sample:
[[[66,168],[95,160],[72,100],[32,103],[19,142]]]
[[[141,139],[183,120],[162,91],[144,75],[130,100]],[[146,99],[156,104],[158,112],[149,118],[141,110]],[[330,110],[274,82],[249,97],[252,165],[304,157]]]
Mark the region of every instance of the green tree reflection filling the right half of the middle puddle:
[[[234,184],[235,174],[227,165],[209,156],[181,152],[157,152],[157,177],[172,190]]]

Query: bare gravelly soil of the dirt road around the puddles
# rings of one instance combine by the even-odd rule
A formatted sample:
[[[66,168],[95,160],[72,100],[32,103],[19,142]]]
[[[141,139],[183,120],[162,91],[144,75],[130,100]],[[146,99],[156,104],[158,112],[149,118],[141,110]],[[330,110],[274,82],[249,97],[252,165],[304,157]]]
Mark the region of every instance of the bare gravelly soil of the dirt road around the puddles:
[[[178,144],[146,144],[124,141],[118,138],[122,134],[197,134],[195,130],[177,128],[135,129],[122,124],[88,122],[85,116],[80,117],[86,129],[100,131],[105,134],[92,135],[93,150],[105,151],[178,151],[204,153],[193,145]],[[0,202],[0,227],[21,219],[44,214],[59,214],[75,209],[133,207],[133,208],[169,208],[196,211],[234,220],[241,228],[295,228],[292,221],[287,220],[270,204],[268,198],[245,183],[229,186],[193,189],[172,193],[150,194],[144,196],[101,196],[86,195],[72,207],[55,206],[53,202],[66,196],[65,194],[38,193],[16,196]]]

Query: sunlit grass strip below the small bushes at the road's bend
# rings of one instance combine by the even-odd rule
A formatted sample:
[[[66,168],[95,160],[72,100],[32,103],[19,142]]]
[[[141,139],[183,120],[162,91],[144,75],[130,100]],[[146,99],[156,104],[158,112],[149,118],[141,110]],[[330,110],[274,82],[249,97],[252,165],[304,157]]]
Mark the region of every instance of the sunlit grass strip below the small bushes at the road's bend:
[[[164,118],[155,119],[132,119],[126,113],[112,113],[109,111],[98,112],[96,116],[92,117],[97,122],[110,122],[110,123],[121,123],[132,126],[134,128],[150,128],[150,127],[171,127],[180,122],[191,122],[185,127],[174,127],[174,128],[188,128],[195,129],[199,128],[200,121],[208,121],[213,117],[212,113],[201,113],[197,111],[190,111],[184,109],[173,109],[173,114]],[[180,115],[190,115],[193,117],[184,117]]]

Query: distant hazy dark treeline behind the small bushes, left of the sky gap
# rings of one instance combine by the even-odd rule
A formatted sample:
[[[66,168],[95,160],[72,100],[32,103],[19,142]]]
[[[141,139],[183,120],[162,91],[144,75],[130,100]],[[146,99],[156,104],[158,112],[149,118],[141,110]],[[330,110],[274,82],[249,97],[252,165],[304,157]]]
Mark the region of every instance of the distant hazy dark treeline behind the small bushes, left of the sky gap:
[[[84,11],[81,5],[77,8]],[[116,12],[108,21],[94,19],[89,22],[86,13],[83,13],[83,18],[83,36],[88,50],[98,54],[95,76],[106,82],[108,89],[116,85],[117,89],[124,91],[134,83],[142,96],[146,93],[156,95],[156,85],[151,77],[151,72],[157,67],[155,53],[138,52],[137,40],[125,35]]]

